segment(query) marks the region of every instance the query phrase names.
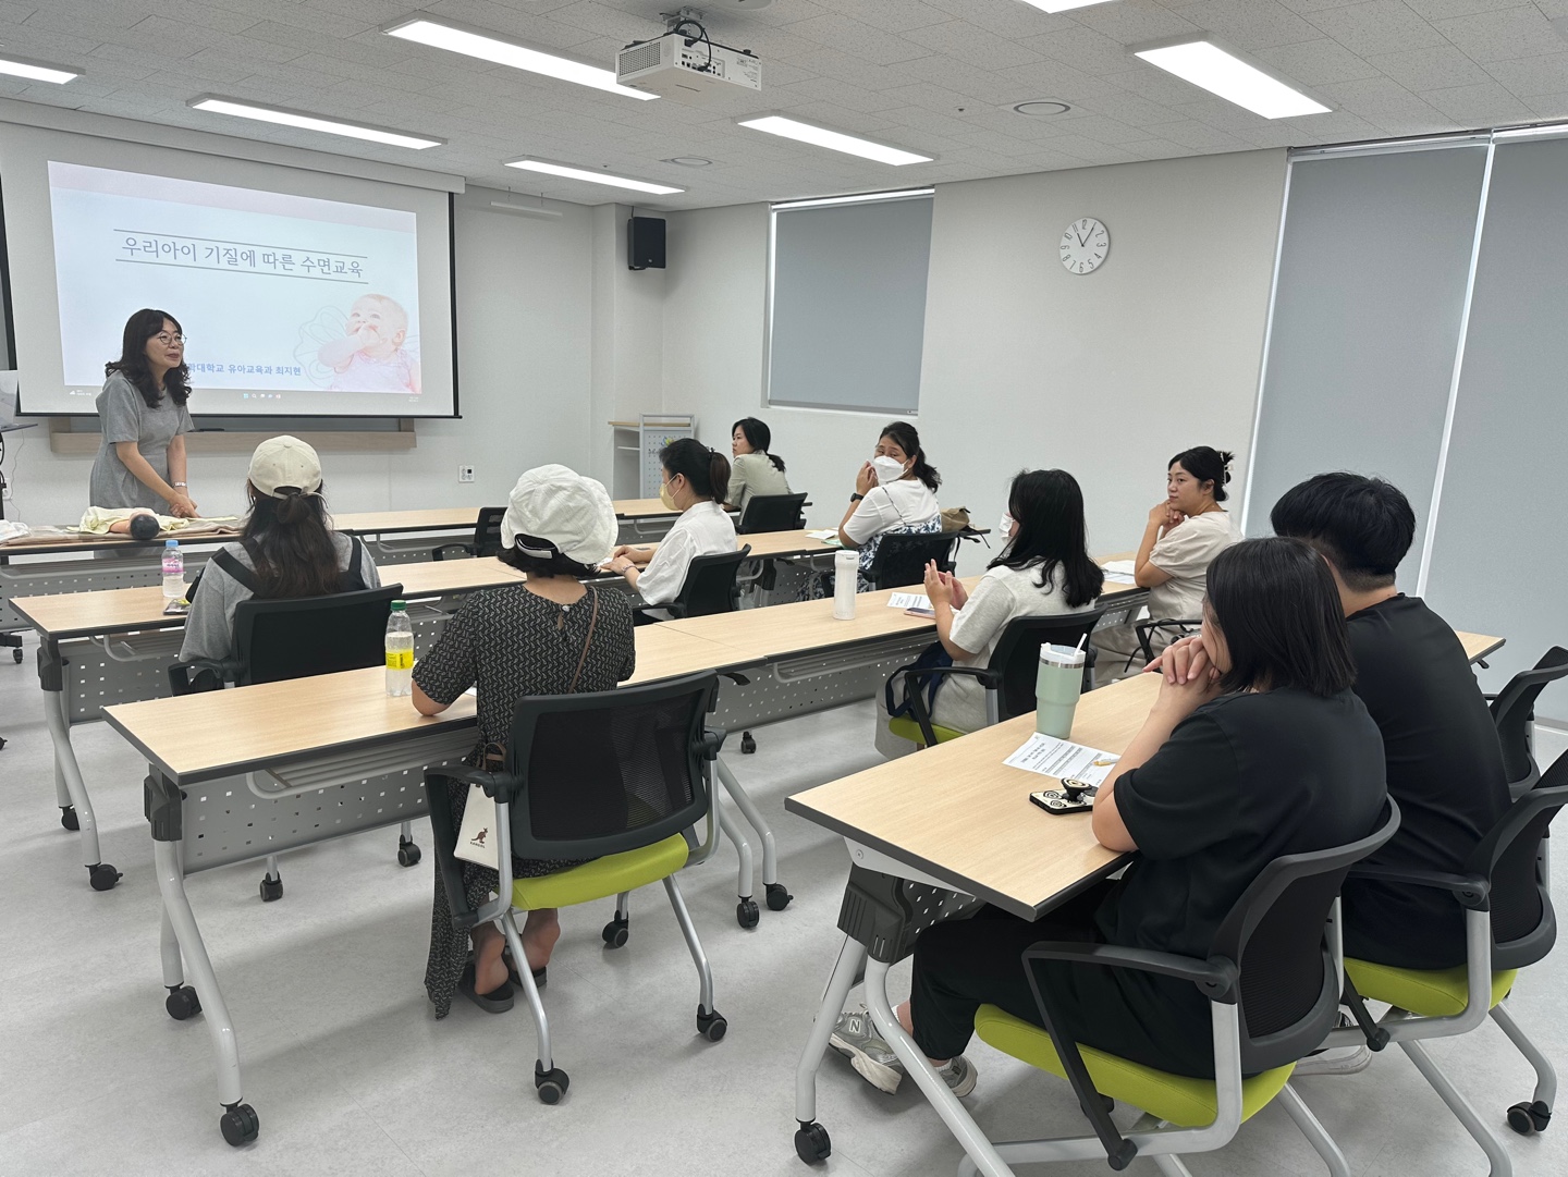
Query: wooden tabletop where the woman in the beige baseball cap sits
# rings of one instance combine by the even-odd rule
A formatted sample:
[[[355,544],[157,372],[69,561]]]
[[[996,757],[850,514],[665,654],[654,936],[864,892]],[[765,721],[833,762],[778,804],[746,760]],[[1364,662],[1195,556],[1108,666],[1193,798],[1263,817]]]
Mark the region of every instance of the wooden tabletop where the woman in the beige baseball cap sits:
[[[392,564],[383,569],[387,585],[401,585],[406,597],[436,597],[524,580],[517,569],[494,556],[480,560],[431,560],[422,564]],[[183,614],[163,613],[163,586],[100,589],[96,592],[55,592],[44,597],[14,597],[11,607],[45,638],[71,638],[130,630],[166,630],[185,624]]]

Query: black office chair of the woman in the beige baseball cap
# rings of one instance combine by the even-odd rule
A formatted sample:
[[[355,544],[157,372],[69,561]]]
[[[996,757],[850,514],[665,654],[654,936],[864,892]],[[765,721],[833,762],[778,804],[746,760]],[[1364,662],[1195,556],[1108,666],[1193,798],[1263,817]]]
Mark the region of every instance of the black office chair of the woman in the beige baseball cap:
[[[234,611],[235,657],[198,658],[169,666],[174,694],[221,690],[224,683],[251,683],[309,679],[317,674],[359,671],[386,661],[387,614],[403,596],[401,585],[325,597],[241,600]],[[420,859],[412,823],[398,832],[397,860],[412,867]],[[263,903],[281,900],[284,879],[278,856],[267,856],[260,882]]]

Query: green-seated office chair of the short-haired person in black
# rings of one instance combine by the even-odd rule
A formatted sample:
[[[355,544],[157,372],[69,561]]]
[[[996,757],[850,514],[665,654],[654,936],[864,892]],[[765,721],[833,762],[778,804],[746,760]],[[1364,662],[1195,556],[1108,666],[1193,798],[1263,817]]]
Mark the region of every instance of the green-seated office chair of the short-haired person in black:
[[[1508,1108],[1508,1127],[1521,1136],[1544,1132],[1552,1117],[1557,1074],[1501,1001],[1513,989],[1518,970],[1551,951],[1557,917],[1537,859],[1541,838],[1557,810],[1568,804],[1568,752],[1546,770],[1540,784],[1513,802],[1471,853],[1458,875],[1367,865],[1356,878],[1413,887],[1438,887],[1465,909],[1466,962],[1455,969],[1396,969],[1345,958],[1345,1000],[1356,1028],[1338,1030],[1325,1045],[1366,1041],[1372,1050],[1397,1042],[1422,1078],[1486,1153],[1493,1177],[1510,1172],[1502,1143],[1427,1055],[1421,1039],[1465,1034],[1488,1014],[1535,1069],[1530,1102]],[[1366,1001],[1391,1009],[1377,1022]]]

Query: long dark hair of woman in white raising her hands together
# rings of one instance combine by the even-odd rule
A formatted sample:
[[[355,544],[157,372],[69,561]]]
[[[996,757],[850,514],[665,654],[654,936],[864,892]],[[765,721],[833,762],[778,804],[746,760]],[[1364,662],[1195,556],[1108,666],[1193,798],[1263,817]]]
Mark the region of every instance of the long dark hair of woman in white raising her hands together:
[[[1088,555],[1083,491],[1066,470],[1019,470],[1007,494],[1018,534],[986,567],[1022,572],[1040,566],[1040,588],[1052,588],[1062,569],[1068,608],[1088,605],[1105,586],[1105,574]]]

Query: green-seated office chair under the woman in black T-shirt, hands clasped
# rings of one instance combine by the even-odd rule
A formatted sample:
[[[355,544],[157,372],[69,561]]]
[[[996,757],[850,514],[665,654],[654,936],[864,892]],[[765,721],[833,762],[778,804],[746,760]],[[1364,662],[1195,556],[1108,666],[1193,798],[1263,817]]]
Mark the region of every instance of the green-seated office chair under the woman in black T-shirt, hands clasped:
[[[1330,1172],[1348,1177],[1339,1147],[1289,1080],[1295,1064],[1322,1042],[1338,1017],[1339,972],[1325,934],[1330,909],[1345,873],[1397,828],[1399,806],[1389,798],[1377,831],[1367,837],[1270,862],[1231,907],[1203,961],[1109,943],[1043,942],[1025,948],[1022,964],[1046,1028],[983,1005],[975,1014],[975,1033],[997,1050],[1066,1078],[1094,1135],[997,1144],[1002,1160],[1016,1164],[1104,1155],[1120,1171],[1138,1155],[1152,1160],[1163,1174],[1187,1175],[1181,1153],[1223,1147],[1242,1122],[1278,1100]],[[1215,1078],[1173,1075],[1063,1039],[1052,1028],[1065,1023],[1062,1011],[1040,987],[1041,961],[1192,981],[1210,1001]],[[908,1069],[920,1072],[922,1088],[933,1081],[946,1086],[924,1063]],[[1243,1074],[1251,1078],[1242,1078]],[[1107,1100],[1121,1100],[1145,1114],[1123,1135],[1110,1119]],[[975,1168],[966,1158],[958,1171],[974,1174]]]

